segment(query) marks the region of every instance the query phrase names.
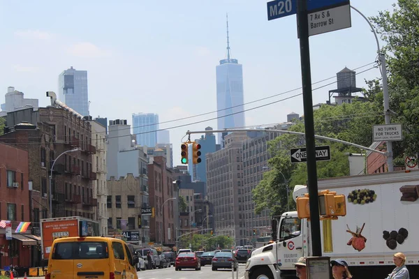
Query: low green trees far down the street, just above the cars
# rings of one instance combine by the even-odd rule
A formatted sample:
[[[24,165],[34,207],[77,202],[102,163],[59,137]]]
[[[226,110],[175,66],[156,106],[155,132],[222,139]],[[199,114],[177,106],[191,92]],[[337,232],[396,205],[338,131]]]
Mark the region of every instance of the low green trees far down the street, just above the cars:
[[[219,245],[221,249],[231,248],[233,239],[228,236],[211,236],[211,234],[188,234],[179,238],[179,248],[189,248],[191,243],[192,250],[215,250]]]

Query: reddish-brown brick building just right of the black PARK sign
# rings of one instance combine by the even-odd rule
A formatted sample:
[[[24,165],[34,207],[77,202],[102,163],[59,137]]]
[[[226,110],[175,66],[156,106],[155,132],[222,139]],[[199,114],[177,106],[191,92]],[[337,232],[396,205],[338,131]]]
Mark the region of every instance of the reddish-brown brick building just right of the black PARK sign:
[[[172,172],[166,167],[166,158],[154,157],[148,166],[149,204],[155,209],[150,218],[150,240],[164,246],[175,246],[175,216]]]

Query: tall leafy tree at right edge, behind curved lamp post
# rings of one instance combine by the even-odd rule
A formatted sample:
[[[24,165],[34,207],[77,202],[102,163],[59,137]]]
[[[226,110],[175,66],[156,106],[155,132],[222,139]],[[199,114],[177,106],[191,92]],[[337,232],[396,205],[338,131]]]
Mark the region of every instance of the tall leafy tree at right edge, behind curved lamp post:
[[[402,123],[402,142],[393,142],[395,157],[419,151],[419,1],[399,0],[390,11],[370,17],[386,45],[392,123]]]

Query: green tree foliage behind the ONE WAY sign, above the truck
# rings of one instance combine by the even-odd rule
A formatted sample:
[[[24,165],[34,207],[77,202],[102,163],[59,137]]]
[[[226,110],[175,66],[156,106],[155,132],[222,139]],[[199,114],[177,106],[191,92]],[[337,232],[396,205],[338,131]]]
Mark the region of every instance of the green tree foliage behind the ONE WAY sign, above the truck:
[[[371,94],[377,101],[362,103],[355,100],[339,106],[323,105],[314,111],[316,135],[369,146],[372,143],[372,126],[384,121],[379,92],[371,91]],[[297,122],[289,130],[304,133],[304,123]],[[292,148],[304,146],[304,142],[304,135],[288,134],[269,142],[272,154],[268,162],[270,171],[265,172],[263,180],[252,191],[256,214],[263,209],[270,209],[271,216],[278,216],[288,210],[288,204],[290,210],[295,209],[291,194],[295,185],[307,184],[307,164],[291,163],[289,152]],[[349,175],[348,153],[360,153],[360,150],[337,142],[316,140],[316,146],[321,145],[330,145],[332,156],[330,161],[317,163],[318,178]]]

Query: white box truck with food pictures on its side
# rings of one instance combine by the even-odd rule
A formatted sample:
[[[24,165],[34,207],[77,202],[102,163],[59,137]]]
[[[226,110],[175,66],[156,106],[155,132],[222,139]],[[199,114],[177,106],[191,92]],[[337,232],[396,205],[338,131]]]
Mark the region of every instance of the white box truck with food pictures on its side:
[[[346,197],[346,216],[321,221],[323,256],[346,260],[354,278],[385,278],[392,255],[403,252],[410,278],[419,278],[419,170],[321,179],[318,190]],[[295,186],[293,199],[305,193]],[[253,251],[245,278],[295,278],[293,264],[312,256],[310,222],[297,211],[283,213],[272,231],[277,241]]]

